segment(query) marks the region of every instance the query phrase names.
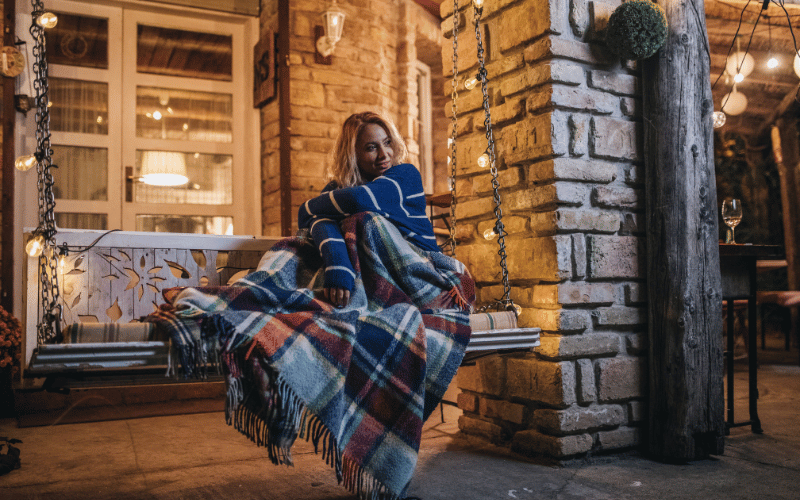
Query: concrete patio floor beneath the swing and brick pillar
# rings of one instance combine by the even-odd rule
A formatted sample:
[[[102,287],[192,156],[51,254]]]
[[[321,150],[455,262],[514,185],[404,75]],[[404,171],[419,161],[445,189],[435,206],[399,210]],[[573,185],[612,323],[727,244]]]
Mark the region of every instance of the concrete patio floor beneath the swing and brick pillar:
[[[566,466],[526,460],[458,432],[445,407],[425,426],[409,494],[448,499],[770,499],[800,498],[800,368],[762,365],[759,413],[764,434],[735,428],[725,455],[686,465],[636,453]],[[744,365],[737,364],[737,419],[746,418]],[[306,499],[352,500],[305,442],[295,467],[278,467],[221,413],[18,428],[22,467],[0,476],[0,499]]]

